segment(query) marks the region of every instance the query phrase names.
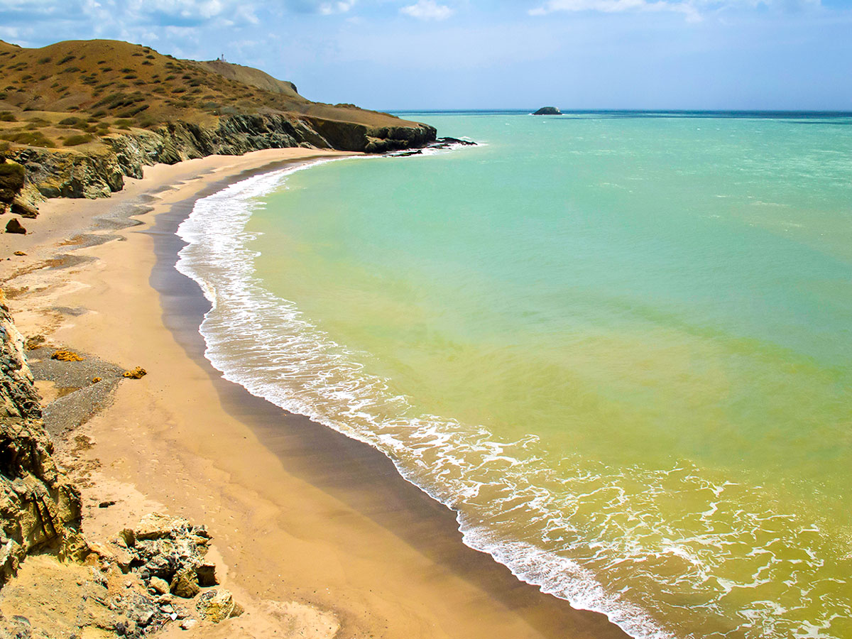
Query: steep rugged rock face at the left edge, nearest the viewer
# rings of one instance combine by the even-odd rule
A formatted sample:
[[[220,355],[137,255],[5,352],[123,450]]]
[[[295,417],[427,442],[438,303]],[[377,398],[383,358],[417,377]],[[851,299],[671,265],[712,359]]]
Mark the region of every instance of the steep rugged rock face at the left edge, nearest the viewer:
[[[2,294],[0,294],[2,295]],[[0,300],[0,586],[33,552],[77,558],[80,493],[53,459],[24,339]]]

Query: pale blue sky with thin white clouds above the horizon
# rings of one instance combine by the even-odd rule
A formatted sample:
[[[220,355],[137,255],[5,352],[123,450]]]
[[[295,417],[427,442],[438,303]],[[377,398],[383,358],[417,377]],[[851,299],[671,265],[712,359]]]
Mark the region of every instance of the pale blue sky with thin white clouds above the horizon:
[[[852,0],[0,0],[7,42],[89,38],[389,111],[852,111]]]

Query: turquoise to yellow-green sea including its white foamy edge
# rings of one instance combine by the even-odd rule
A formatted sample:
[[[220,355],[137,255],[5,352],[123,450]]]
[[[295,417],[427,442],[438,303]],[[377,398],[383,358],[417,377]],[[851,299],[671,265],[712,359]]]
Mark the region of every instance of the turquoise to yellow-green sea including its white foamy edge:
[[[406,118],[199,200],[213,365],[631,636],[852,637],[852,116]]]

